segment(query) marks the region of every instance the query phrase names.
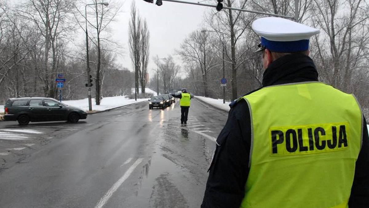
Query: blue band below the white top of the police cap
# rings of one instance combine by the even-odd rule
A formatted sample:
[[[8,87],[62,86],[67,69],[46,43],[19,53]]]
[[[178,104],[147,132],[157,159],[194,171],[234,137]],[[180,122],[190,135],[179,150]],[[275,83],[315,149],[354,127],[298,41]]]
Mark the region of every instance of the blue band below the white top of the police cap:
[[[271,41],[261,37],[261,45],[273,52],[298,52],[309,49],[309,40]]]

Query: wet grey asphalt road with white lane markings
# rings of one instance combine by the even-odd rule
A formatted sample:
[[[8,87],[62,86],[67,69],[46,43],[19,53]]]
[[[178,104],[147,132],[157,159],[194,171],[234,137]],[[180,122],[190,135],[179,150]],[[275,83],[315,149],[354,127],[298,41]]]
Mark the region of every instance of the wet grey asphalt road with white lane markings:
[[[0,158],[13,161],[0,172],[0,207],[200,207],[226,119],[193,99],[186,126],[179,102],[164,110],[141,103],[76,124],[0,122]],[[2,140],[1,131],[9,129],[27,129],[28,138]],[[1,156],[9,145],[25,149],[8,148]]]

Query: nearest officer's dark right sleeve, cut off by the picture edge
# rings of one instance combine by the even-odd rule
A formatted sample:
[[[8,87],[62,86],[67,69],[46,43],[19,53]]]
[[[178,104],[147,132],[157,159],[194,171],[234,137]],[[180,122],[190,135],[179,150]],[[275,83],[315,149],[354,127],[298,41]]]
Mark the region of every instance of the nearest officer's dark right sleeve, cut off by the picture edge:
[[[349,208],[369,207],[369,136],[366,120],[363,125],[363,143],[356,160],[354,182],[351,188]]]

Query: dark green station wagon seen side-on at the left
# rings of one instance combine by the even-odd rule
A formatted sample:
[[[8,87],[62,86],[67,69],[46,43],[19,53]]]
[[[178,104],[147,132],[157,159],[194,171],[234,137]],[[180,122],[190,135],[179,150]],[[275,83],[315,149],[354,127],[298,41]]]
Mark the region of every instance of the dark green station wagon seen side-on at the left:
[[[17,120],[20,125],[28,125],[29,122],[59,120],[74,123],[79,119],[87,118],[84,110],[66,105],[53,98],[10,98],[4,110],[4,120]]]

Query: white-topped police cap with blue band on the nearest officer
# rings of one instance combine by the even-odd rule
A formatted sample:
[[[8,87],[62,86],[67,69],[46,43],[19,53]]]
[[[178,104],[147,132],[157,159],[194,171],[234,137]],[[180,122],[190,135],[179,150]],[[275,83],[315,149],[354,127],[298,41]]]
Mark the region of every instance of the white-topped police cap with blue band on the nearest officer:
[[[261,47],[273,52],[306,51],[309,39],[320,31],[295,21],[279,17],[263,17],[252,23],[252,30],[261,36]]]

